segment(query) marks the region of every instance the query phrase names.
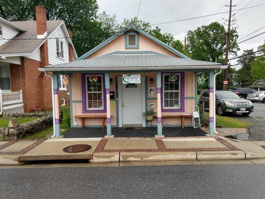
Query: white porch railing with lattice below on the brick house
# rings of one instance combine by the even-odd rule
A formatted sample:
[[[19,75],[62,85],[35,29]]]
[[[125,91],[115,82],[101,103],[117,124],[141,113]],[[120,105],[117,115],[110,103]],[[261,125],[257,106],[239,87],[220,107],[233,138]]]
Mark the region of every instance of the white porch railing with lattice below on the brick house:
[[[5,113],[23,113],[24,103],[22,91],[2,92],[0,90],[0,114]]]

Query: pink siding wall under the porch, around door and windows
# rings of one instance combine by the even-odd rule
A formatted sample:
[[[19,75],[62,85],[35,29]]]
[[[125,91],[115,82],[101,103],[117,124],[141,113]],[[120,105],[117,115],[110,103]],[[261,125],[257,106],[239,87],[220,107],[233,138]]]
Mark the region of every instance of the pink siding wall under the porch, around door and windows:
[[[129,73],[128,73],[129,74]],[[138,73],[137,73],[138,74]],[[141,76],[147,77],[147,86],[155,86],[157,85],[157,74],[155,72],[146,72],[146,73],[140,73]],[[110,85],[110,91],[115,91],[115,77],[116,76],[122,76],[122,73],[110,73],[109,78],[112,79],[112,85]],[[154,83],[150,84],[150,78],[154,79]],[[195,95],[195,77],[193,72],[185,72],[185,97],[194,97]],[[72,100],[82,100],[82,90],[81,90],[81,74],[73,74],[72,75]],[[116,91],[115,91],[116,95]],[[145,94],[144,94],[145,95]],[[156,88],[156,95],[157,95],[157,88]],[[196,96],[195,96],[196,97]],[[152,98],[154,99],[154,98]],[[148,107],[149,102],[155,101],[155,111],[157,111],[157,100],[148,100]],[[116,102],[114,100],[114,102]],[[185,112],[163,112],[162,115],[179,115],[181,113],[192,113],[192,106],[194,105],[195,100],[194,99],[185,99]],[[74,102],[73,103],[73,125],[75,126],[75,123],[77,122],[77,125],[81,125],[81,119],[74,118],[77,114],[88,114],[88,115],[96,115],[96,114],[102,114],[102,113],[82,113],[82,102]],[[116,125],[116,110],[111,110],[111,124]],[[85,124],[86,125],[101,125],[102,120],[101,119],[86,119]],[[180,124],[180,118],[179,117],[169,117],[164,119],[164,125],[170,123],[170,125],[179,125]],[[184,119],[185,124],[191,124],[191,118],[185,118]],[[153,124],[157,124],[156,119],[154,119]]]

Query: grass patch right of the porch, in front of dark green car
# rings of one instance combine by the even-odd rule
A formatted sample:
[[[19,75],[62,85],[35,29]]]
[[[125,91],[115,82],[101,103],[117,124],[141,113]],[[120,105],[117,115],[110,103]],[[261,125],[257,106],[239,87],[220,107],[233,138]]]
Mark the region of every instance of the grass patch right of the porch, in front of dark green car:
[[[209,119],[209,112],[205,112],[205,117]],[[232,116],[220,116],[216,114],[216,123],[222,128],[248,128],[251,122],[242,121]]]

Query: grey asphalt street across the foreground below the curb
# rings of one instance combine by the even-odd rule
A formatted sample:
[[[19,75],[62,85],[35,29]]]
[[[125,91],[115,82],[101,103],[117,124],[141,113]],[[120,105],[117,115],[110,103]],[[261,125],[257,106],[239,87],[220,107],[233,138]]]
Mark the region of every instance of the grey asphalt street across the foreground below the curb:
[[[265,164],[0,169],[1,199],[264,199]]]

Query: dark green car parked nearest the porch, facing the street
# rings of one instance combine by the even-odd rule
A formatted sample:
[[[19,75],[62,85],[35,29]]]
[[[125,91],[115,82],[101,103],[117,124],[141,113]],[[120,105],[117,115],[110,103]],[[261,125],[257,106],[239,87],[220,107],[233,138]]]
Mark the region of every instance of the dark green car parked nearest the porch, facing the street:
[[[240,98],[231,91],[216,91],[215,92],[215,108],[218,115],[223,115],[224,112],[242,113],[249,115],[253,112],[254,106],[250,100]],[[202,93],[199,103],[204,102],[205,107],[209,107],[209,91]]]

